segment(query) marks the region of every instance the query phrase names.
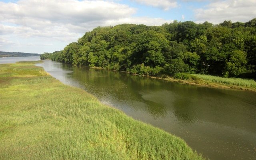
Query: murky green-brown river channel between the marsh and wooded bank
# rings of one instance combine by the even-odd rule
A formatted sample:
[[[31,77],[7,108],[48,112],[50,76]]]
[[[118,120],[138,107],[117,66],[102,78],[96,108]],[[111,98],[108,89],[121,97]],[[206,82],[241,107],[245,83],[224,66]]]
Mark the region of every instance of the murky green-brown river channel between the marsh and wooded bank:
[[[37,66],[136,120],[179,136],[206,158],[256,159],[256,92],[178,84],[49,60]]]

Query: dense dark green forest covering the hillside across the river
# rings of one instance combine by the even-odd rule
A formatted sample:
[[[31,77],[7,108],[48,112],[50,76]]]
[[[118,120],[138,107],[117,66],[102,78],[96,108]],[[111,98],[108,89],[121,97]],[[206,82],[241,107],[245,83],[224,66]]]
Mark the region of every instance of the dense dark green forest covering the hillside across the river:
[[[185,72],[255,78],[256,18],[217,25],[174,20],[161,26],[98,27],[41,59],[151,76]]]

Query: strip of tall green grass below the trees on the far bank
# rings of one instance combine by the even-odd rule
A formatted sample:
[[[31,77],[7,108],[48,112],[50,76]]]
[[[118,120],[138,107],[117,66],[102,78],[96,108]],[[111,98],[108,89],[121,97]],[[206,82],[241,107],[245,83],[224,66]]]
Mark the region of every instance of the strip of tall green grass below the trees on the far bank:
[[[249,79],[242,79],[242,78],[223,78],[223,77],[203,75],[203,74],[192,74],[192,76],[195,76],[202,80],[215,82],[215,83],[256,88],[256,82],[255,80],[252,80],[252,79],[249,80]]]

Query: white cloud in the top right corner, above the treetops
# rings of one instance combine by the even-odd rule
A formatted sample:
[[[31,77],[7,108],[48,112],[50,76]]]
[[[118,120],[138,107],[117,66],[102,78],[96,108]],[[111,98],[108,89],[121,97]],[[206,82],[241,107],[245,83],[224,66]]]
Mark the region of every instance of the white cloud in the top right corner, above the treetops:
[[[218,24],[224,20],[248,22],[256,17],[256,0],[225,0],[208,4],[206,8],[194,10],[196,22]]]

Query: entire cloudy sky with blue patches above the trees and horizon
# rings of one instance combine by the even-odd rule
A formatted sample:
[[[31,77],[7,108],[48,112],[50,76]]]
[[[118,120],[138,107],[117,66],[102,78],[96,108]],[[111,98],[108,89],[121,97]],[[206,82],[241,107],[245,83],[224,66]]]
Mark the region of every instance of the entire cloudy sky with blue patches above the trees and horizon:
[[[0,51],[62,50],[97,26],[252,18],[256,0],[0,0]]]

